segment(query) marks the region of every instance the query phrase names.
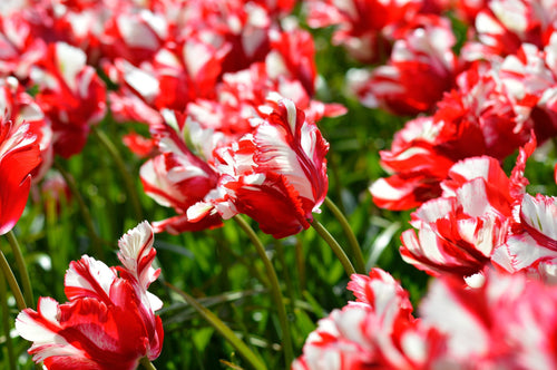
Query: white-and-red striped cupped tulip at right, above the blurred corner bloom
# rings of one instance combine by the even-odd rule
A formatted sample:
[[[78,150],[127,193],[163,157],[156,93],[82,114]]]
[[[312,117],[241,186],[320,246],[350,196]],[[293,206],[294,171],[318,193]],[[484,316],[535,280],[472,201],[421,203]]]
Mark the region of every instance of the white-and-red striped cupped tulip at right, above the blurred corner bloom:
[[[402,233],[402,259],[432,275],[470,278],[490,263],[505,242],[512,198],[509,179],[495,158],[457,163],[441,185],[446,194],[412,213],[418,231]],[[471,283],[471,281],[470,281]]]

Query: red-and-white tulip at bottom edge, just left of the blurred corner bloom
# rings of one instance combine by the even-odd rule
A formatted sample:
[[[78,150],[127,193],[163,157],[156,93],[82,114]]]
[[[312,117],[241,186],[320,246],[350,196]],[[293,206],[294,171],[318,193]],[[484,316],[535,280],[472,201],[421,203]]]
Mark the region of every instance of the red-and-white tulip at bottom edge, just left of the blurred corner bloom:
[[[353,274],[348,289],[356,302],[320,320],[293,370],[431,368],[441,335],[413,318],[408,292],[389,273]]]

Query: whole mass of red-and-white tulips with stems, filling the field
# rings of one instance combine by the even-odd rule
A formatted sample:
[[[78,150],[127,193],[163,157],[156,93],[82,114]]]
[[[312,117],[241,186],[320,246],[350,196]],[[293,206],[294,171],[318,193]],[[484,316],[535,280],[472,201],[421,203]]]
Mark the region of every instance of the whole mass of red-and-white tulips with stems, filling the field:
[[[530,194],[526,176],[557,136],[557,1],[26,0],[0,11],[0,235],[23,289],[3,253],[0,267],[35,362],[154,368],[165,306],[147,290],[165,272],[153,266],[155,234],[234,220],[264,263],[282,367],[557,369],[557,198]],[[432,276],[417,315],[326,197],[330,144],[317,125],[350,110],[325,98],[315,33],[353,62],[342,94],[405,121],[379,153],[388,176],[369,178],[367,194],[385,214],[413,211],[400,255]],[[66,303],[35,304],[12,228],[58,157],[80,156],[91,133],[109,139],[100,123],[145,126],[121,139],[169,216],[129,230],[119,266],[71,262]],[[315,218],[324,203],[350,245]],[[350,279],[355,301],[303,345],[252,224],[276,240],[312,226]],[[246,367],[270,366],[182,295]]]

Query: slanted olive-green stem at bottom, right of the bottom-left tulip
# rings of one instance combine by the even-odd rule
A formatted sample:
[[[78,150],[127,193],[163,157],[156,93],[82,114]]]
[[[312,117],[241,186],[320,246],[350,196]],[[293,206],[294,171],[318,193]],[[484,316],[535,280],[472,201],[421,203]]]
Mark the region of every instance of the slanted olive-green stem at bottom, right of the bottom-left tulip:
[[[221,335],[234,347],[240,354],[256,370],[266,370],[265,363],[213,312],[202,305],[195,298],[176,286],[166,283],[173,291],[178,293],[190,306],[193,306]]]

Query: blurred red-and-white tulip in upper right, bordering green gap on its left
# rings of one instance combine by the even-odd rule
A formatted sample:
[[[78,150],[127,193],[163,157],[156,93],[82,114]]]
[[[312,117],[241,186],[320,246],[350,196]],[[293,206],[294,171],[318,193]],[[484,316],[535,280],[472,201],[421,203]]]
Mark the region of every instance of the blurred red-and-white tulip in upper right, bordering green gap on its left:
[[[458,71],[456,43],[448,19],[421,16],[400,31],[387,65],[368,74],[352,69],[349,87],[370,108],[384,108],[399,115],[432,111],[444,91],[455,84]],[[428,86],[423,91],[422,86]]]

